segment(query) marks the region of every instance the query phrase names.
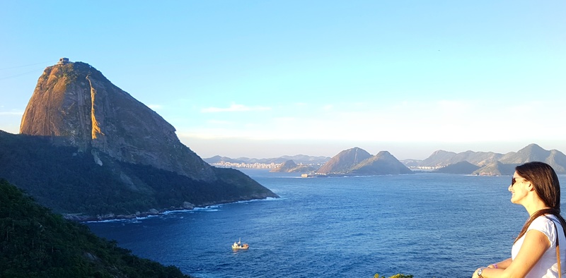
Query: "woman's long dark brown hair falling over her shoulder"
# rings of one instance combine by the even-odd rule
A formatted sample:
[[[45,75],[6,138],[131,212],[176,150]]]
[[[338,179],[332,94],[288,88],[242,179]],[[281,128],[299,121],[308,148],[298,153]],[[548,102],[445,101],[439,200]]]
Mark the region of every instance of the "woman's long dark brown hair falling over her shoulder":
[[[535,192],[541,200],[547,205],[548,209],[537,210],[529,220],[524,224],[523,229],[519,233],[519,236],[515,239],[515,242],[526,234],[526,230],[529,229],[529,225],[533,222],[536,217],[544,214],[553,214],[564,229],[566,234],[566,221],[562,215],[560,215],[560,181],[558,181],[558,176],[554,171],[553,167],[543,162],[527,162],[515,167],[515,171],[519,176],[526,181],[530,181],[535,188]],[[558,231],[557,231],[558,232]],[[558,234],[556,235],[558,236]]]

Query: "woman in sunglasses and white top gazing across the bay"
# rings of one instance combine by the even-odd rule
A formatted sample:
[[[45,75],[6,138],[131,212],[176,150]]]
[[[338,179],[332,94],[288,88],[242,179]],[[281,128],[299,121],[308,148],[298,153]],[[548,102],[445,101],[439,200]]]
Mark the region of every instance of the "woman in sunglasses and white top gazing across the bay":
[[[558,277],[556,236],[562,273],[566,269],[566,222],[560,216],[560,182],[550,165],[529,162],[515,167],[511,203],[523,205],[529,220],[513,243],[511,258],[475,270],[472,278]]]

